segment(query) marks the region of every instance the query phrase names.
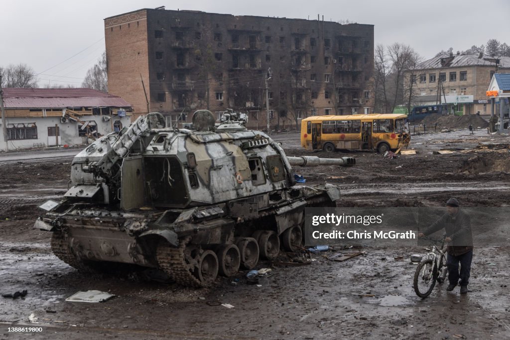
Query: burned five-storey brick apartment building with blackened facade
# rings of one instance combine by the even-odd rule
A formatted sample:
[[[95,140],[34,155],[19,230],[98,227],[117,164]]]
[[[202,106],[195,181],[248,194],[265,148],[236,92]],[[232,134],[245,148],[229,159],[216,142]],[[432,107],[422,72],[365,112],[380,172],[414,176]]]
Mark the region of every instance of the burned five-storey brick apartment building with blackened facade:
[[[105,39],[110,93],[169,124],[232,108],[262,129],[266,96],[278,128],[373,110],[373,25],[141,9],[106,18]]]

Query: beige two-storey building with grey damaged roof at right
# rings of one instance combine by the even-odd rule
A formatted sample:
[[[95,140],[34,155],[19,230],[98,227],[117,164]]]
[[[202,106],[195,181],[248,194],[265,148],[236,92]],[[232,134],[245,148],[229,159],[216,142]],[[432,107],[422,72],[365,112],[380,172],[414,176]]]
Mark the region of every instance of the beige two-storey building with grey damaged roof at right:
[[[424,61],[406,78],[414,82],[415,106],[441,102],[447,104],[449,113],[490,114],[486,91],[497,72],[510,72],[509,57],[457,53]]]

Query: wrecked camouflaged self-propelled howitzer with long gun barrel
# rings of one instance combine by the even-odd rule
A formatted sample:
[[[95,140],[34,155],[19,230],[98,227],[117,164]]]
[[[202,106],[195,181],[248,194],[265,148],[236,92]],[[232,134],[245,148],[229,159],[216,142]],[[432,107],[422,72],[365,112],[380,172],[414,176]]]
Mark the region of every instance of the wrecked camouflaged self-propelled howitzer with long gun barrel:
[[[77,269],[136,264],[193,286],[298,250],[304,208],[335,206],[339,190],[296,186],[291,166],[354,159],[287,157],[243,121],[214,122],[200,110],[193,130],[165,128],[150,113],[96,140],[72,161],[64,198],[41,205],[35,228],[52,231],[53,252]]]

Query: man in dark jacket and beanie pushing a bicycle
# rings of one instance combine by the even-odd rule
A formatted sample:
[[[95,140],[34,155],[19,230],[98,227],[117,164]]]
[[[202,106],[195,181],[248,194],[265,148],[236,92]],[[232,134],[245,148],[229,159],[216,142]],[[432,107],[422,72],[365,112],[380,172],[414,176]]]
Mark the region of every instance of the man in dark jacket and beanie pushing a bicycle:
[[[450,198],[446,202],[446,208],[447,212],[436,222],[423,230],[423,232],[419,232],[418,237],[422,238],[445,228],[445,241],[448,242],[448,247],[446,249],[448,252],[448,281],[450,282],[446,290],[451,292],[455,289],[455,286],[460,283],[461,294],[466,294],[468,292],[471,261],[473,259],[471,218],[461,210],[456,198]],[[458,273],[459,264],[461,265],[460,275]]]

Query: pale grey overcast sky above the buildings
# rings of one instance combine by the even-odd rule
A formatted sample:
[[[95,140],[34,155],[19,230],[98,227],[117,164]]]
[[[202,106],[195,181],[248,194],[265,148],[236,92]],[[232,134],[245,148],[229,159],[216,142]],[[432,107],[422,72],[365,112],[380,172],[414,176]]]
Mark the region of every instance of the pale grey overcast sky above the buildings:
[[[510,1],[250,1],[75,0],[2,1],[0,67],[25,63],[45,84],[80,86],[105,50],[104,18],[141,8],[188,9],[234,15],[349,20],[374,25],[375,44],[411,45],[425,59],[454,51],[510,44]],[[126,46],[129,48],[129,46]]]

